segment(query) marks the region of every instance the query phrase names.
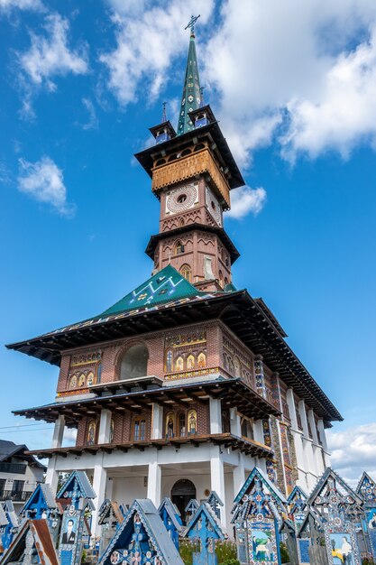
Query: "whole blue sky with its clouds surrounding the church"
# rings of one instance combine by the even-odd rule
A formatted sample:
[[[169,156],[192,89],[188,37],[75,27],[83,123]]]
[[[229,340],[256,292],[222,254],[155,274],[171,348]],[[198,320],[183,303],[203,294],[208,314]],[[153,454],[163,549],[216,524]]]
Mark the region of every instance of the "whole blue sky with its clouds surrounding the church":
[[[225,229],[234,283],[262,296],[345,421],[335,467],[376,473],[376,7],[197,0],[0,0],[2,343],[104,310],[151,273],[159,204],[133,153],[176,125],[191,13],[206,101],[243,170]],[[274,17],[271,17],[271,14]],[[271,41],[272,38],[272,41]],[[236,192],[236,193],[235,193]],[[58,369],[0,350],[0,437]]]

